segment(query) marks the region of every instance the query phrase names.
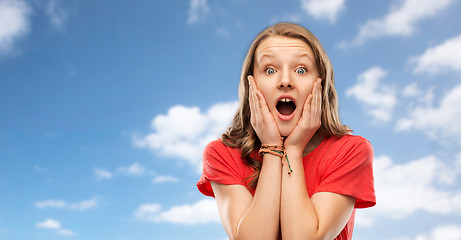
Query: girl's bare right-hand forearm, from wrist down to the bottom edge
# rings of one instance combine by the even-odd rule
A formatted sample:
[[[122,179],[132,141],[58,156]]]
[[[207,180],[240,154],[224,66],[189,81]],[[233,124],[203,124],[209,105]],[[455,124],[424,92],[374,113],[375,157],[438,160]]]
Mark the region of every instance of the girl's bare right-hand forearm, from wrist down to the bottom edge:
[[[283,239],[322,239],[319,218],[309,198],[303,167],[303,155],[287,150],[293,172],[282,171],[281,228]]]

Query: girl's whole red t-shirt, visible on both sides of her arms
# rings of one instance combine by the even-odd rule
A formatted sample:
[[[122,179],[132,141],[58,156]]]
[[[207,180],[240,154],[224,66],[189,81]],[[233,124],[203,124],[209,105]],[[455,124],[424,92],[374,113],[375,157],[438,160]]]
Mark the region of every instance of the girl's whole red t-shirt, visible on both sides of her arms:
[[[252,155],[258,158],[255,152]],[[355,197],[355,208],[376,204],[373,180],[373,148],[365,138],[354,135],[325,138],[317,148],[303,158],[309,196],[317,192],[332,192]],[[241,159],[239,149],[210,142],[203,153],[203,174],[197,183],[201,193],[214,197],[210,181],[239,184],[248,187],[253,168]],[[352,239],[355,209],[335,240]]]

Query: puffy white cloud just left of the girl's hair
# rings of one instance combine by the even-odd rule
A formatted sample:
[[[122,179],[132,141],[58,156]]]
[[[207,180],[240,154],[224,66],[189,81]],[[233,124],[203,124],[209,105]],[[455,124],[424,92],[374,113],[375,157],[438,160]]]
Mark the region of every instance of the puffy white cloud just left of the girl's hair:
[[[205,113],[198,107],[174,106],[154,118],[153,133],[133,136],[133,143],[184,160],[201,171],[203,149],[226,130],[236,110],[237,102],[214,104]]]

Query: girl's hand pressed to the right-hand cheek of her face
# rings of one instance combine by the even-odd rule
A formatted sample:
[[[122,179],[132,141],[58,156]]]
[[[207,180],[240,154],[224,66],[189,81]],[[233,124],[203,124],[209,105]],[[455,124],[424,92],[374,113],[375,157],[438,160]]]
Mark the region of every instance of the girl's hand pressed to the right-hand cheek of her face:
[[[298,124],[285,140],[285,148],[303,152],[309,140],[322,124],[322,79],[318,78],[306,99]]]

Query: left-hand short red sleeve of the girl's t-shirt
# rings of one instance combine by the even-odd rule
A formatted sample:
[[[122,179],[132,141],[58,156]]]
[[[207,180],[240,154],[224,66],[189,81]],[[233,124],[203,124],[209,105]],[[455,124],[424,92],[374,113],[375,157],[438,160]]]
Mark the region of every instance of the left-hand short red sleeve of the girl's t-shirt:
[[[210,197],[214,197],[210,181],[226,185],[245,185],[242,174],[239,171],[241,158],[236,149],[225,146],[221,140],[210,142],[203,151],[203,173],[197,182],[199,191]],[[240,161],[240,162],[239,162]]]

